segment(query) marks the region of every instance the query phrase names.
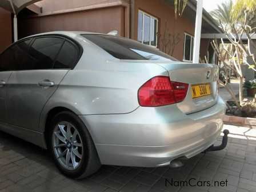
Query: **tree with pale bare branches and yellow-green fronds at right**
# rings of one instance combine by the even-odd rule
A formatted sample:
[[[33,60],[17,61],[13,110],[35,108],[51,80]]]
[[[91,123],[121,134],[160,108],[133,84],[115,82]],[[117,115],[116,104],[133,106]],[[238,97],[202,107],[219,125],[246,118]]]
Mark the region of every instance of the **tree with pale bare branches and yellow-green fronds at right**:
[[[255,25],[255,10],[256,0],[237,0],[234,4],[231,2],[229,2],[228,5],[222,4],[222,6],[218,7],[218,10],[212,12],[213,16],[219,19],[219,24],[223,31],[225,31],[226,38],[229,40],[229,45],[227,45],[222,39],[222,47],[229,60],[233,62],[233,70],[240,79],[239,101],[241,107],[239,106],[239,108],[241,108],[244,113],[250,109],[250,106],[255,108],[256,103],[256,95],[253,102],[250,102],[250,104],[248,104],[249,102],[243,101],[242,87],[242,65],[247,65],[249,69],[256,71],[256,53],[251,49],[256,50],[256,44],[251,39],[251,36],[255,33],[255,27],[251,27],[251,25]],[[247,38],[246,42],[243,41],[244,36]],[[221,58],[223,53],[219,51],[217,43],[214,43],[213,47],[215,47],[218,53],[219,61],[223,61]],[[250,61],[244,58],[250,58]],[[225,67],[226,66],[227,65],[225,65]]]

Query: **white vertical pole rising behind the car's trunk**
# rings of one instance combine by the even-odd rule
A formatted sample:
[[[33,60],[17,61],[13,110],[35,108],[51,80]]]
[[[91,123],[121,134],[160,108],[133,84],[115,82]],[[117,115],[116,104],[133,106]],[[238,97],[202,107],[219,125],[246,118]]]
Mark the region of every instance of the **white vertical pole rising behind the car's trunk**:
[[[201,29],[202,29],[203,0],[197,0],[197,18],[195,19],[195,38],[193,63],[199,63]]]

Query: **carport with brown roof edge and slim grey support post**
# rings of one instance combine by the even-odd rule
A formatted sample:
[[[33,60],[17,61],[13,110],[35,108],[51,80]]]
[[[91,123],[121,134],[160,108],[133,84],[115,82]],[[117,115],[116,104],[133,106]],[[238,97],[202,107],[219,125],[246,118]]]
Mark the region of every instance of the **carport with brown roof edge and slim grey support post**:
[[[19,11],[21,11],[25,7],[27,7],[27,9],[30,9],[35,13],[41,13],[42,12],[41,7],[38,7],[37,5],[33,4],[38,1],[41,1],[41,0],[1,0],[0,1],[0,7],[14,14],[14,17],[13,17],[14,41],[18,40],[17,14],[19,13]]]

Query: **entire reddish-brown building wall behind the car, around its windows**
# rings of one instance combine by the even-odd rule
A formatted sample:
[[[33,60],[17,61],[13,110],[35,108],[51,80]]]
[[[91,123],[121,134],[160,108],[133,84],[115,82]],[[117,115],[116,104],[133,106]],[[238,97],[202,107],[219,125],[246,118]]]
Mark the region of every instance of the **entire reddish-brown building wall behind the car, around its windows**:
[[[106,7],[103,9],[91,9],[85,11],[76,11],[71,13],[63,13],[65,10],[73,10],[81,7],[93,7],[97,5],[109,6],[113,3],[131,3],[130,0],[43,0],[37,3],[43,7],[43,15],[33,18],[19,18],[19,37],[27,35],[43,33],[55,30],[73,30],[73,31],[92,31],[97,33],[108,33],[112,30],[118,30],[120,36],[131,36],[133,39],[138,38],[138,11],[142,10],[146,13],[158,18],[158,48],[171,54],[170,47],[163,47],[167,41],[163,41],[166,34],[179,37],[179,42],[175,46],[173,55],[179,60],[183,60],[184,33],[194,35],[194,23],[185,17],[174,17],[174,7],[165,0],[135,0],[134,1],[134,21],[127,22],[126,9],[123,6]],[[61,13],[52,14],[51,13]],[[129,11],[130,12],[130,11]],[[127,23],[133,23],[132,34],[127,29]],[[201,43],[201,50],[207,50],[209,44]],[[204,51],[201,51],[202,57]],[[206,51],[207,53],[207,51]]]

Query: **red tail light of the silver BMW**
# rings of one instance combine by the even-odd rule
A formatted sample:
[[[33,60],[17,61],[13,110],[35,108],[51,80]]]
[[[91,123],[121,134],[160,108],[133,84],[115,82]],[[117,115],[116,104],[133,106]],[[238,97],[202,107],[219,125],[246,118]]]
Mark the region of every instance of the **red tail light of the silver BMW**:
[[[188,88],[189,84],[170,81],[166,76],[154,77],[139,88],[139,105],[157,107],[181,102]]]

